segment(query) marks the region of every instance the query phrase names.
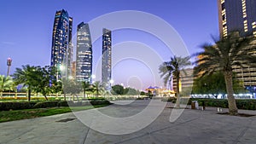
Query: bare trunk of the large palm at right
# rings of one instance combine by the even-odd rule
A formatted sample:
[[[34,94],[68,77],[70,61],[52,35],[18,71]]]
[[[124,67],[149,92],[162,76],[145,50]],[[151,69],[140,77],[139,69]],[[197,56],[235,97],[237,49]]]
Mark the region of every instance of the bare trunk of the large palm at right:
[[[230,115],[236,115],[238,113],[238,110],[236,107],[236,99],[233,95],[234,90],[233,90],[232,74],[233,74],[232,71],[224,72],[224,78],[225,78],[226,89],[227,89],[227,93],[228,93]]]

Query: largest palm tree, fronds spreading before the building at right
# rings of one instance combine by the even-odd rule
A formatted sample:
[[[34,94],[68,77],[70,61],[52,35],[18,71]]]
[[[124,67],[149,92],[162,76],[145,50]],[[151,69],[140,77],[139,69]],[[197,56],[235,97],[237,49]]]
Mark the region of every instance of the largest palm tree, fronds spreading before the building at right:
[[[201,48],[204,50],[195,55],[200,55],[200,59],[195,63],[195,74],[203,77],[206,74],[222,71],[224,74],[226,90],[228,94],[228,103],[230,115],[238,113],[233,89],[233,67],[251,65],[255,66],[256,56],[250,55],[255,50],[248,46],[252,43],[253,37],[239,37],[236,32],[229,36],[215,41],[215,44],[204,44]],[[249,55],[248,55],[249,54]]]

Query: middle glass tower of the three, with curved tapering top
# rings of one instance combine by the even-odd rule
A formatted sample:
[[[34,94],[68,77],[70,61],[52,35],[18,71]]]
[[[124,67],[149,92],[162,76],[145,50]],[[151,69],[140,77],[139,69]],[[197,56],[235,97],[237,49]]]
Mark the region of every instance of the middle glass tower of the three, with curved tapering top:
[[[91,83],[92,45],[89,25],[81,22],[77,29],[76,79]]]

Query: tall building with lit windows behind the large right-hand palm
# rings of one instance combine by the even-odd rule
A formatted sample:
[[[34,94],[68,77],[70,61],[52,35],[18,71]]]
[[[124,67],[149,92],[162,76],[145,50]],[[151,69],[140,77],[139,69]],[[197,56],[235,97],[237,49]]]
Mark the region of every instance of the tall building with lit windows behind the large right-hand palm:
[[[256,37],[256,1],[218,0],[218,23],[220,37],[226,37],[230,32],[239,32],[241,37],[253,37],[253,35]],[[256,55],[256,51],[252,55]],[[236,78],[255,93],[256,67],[236,66],[233,69]]]

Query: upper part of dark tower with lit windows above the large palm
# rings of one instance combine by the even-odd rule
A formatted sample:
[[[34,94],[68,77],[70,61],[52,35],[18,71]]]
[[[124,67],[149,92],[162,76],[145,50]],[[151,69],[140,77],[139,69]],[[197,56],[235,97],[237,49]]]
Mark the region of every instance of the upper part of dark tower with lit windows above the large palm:
[[[256,1],[218,0],[218,23],[221,37],[234,31],[256,36]]]

